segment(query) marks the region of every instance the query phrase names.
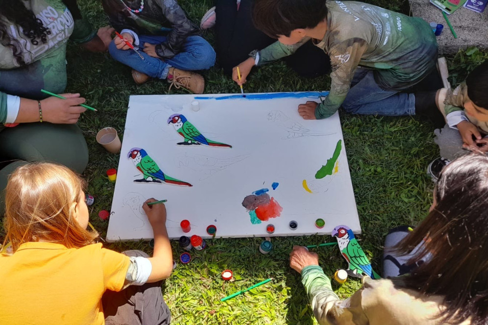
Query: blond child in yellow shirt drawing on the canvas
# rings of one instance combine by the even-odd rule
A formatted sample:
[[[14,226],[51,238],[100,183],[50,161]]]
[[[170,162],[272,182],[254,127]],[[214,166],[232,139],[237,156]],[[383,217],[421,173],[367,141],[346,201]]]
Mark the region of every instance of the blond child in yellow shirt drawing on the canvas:
[[[164,204],[148,206],[150,199],[142,206],[154,256],[129,257],[95,244],[82,187],[71,170],[51,163],[27,164],[10,176],[4,244],[13,253],[0,254],[0,324],[169,324],[157,283],[172,271]]]

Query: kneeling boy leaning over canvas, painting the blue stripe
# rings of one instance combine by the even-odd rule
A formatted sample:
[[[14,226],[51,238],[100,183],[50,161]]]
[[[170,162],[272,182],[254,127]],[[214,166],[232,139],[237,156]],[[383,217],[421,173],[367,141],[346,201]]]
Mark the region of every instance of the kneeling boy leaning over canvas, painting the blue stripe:
[[[238,84],[253,66],[290,55],[311,38],[331,58],[332,84],[320,104],[298,106],[304,119],[327,118],[340,106],[354,114],[441,117],[438,75],[434,91],[411,93],[436,68],[436,37],[422,19],[338,0],[256,0],[253,15],[257,28],[279,42],[239,64],[242,82],[236,71],[232,75]]]

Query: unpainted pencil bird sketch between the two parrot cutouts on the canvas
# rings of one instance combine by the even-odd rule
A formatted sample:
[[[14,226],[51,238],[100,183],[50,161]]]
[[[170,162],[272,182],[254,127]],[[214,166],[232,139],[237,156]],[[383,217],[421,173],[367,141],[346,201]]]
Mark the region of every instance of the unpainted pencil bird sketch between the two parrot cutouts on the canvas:
[[[186,167],[193,171],[200,172],[200,180],[210,177],[218,172],[225,170],[227,167],[236,164],[251,156],[250,153],[241,154],[229,158],[215,158],[203,154],[184,155],[175,157],[178,168]]]

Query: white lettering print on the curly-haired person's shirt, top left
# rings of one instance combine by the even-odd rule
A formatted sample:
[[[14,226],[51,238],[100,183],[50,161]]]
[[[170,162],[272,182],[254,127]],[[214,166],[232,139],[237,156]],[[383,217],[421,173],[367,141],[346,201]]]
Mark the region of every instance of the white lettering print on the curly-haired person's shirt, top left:
[[[42,24],[51,31],[51,34],[47,35],[48,42],[46,44],[39,42],[38,45],[33,45],[29,40],[24,38],[23,28],[18,27],[18,31],[22,36],[18,35],[17,29],[14,25],[10,25],[10,35],[16,38],[22,47],[25,49],[24,61],[26,64],[30,64],[35,61],[35,58],[45,53],[46,51],[56,48],[60,42],[66,43],[72,27],[75,25],[73,16],[68,9],[60,15],[56,9],[48,6],[36,15],[36,18],[42,21]]]

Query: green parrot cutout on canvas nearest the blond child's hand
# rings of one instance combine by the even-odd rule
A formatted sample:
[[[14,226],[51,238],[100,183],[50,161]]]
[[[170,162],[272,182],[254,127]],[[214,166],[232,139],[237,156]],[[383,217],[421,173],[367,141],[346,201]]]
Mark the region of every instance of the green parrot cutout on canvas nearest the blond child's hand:
[[[154,182],[154,183],[168,183],[182,186],[193,186],[190,183],[170,177],[161,171],[159,166],[155,163],[146,150],[141,148],[132,148],[127,157],[132,159],[135,167],[144,175],[142,179],[136,179],[134,182]]]

